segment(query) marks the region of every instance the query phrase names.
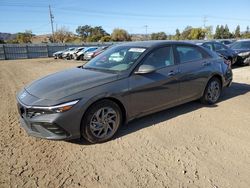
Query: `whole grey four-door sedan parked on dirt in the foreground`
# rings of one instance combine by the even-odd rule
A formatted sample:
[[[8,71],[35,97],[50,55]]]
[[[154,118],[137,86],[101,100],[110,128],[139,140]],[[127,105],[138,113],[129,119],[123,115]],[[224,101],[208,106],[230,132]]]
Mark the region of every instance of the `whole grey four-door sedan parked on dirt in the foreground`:
[[[130,42],[32,82],[17,95],[18,111],[32,136],[82,136],[98,143],[135,118],[196,99],[214,104],[231,82],[231,67],[208,49],[175,41]]]

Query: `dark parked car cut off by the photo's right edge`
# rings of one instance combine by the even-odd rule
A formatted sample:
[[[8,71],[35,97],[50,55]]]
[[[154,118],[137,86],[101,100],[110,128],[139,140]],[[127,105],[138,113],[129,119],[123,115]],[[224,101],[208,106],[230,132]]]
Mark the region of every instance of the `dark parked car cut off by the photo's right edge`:
[[[237,64],[250,65],[250,40],[238,40],[230,48],[237,54]]]

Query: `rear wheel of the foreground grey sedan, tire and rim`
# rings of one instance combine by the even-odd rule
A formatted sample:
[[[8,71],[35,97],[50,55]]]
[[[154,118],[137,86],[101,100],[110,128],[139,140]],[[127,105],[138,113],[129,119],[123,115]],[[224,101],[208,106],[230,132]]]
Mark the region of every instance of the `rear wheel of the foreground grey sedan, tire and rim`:
[[[221,91],[222,91],[221,81],[216,77],[212,77],[208,81],[203,96],[201,97],[200,100],[203,104],[209,104],[209,105],[215,104],[220,98]]]

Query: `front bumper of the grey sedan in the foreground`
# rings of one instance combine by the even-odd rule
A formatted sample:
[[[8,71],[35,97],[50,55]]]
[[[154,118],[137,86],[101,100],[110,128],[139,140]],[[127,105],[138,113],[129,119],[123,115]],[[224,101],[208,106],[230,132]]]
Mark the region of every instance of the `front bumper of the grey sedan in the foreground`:
[[[29,106],[17,100],[21,127],[28,135],[50,140],[80,138],[81,117],[74,110],[63,113],[30,116]]]

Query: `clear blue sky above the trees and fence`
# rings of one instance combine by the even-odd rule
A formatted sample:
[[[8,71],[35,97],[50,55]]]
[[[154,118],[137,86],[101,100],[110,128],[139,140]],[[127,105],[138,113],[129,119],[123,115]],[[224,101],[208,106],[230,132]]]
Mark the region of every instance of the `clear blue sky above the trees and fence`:
[[[166,32],[177,28],[227,24],[230,31],[250,26],[250,0],[0,0],[0,32],[31,30],[50,34],[49,8],[54,28],[66,27],[75,33],[79,25],[114,28],[130,34]]]

